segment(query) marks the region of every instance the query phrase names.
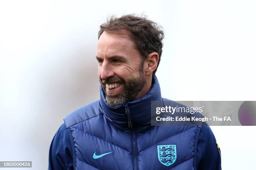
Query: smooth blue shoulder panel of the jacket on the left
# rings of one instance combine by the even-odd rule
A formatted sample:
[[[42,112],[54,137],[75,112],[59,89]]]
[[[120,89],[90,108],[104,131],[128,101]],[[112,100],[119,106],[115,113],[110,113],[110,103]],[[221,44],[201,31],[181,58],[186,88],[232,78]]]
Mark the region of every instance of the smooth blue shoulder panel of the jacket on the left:
[[[83,122],[84,120],[88,120],[100,114],[103,114],[103,112],[100,106],[100,100],[97,100],[75,110],[74,112],[64,117],[64,122],[66,127],[69,128],[72,125]]]

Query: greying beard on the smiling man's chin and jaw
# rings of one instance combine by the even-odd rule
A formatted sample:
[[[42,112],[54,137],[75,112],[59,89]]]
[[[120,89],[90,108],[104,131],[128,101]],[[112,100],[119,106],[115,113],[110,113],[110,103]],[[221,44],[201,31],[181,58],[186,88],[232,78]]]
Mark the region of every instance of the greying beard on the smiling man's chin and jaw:
[[[128,80],[128,82],[125,83],[125,91],[120,97],[117,97],[115,94],[108,95],[106,93],[105,87],[103,87],[106,95],[105,101],[110,107],[117,107],[118,105],[131,102],[136,99],[145,84],[146,78],[142,75],[136,80]]]

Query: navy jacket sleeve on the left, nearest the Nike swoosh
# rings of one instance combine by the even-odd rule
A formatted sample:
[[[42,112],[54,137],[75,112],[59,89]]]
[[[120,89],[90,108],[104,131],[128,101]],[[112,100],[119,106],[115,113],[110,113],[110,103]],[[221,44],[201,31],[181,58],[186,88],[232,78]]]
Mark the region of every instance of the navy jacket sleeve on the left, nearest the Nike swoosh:
[[[72,146],[63,123],[54,135],[49,149],[48,170],[73,170]]]

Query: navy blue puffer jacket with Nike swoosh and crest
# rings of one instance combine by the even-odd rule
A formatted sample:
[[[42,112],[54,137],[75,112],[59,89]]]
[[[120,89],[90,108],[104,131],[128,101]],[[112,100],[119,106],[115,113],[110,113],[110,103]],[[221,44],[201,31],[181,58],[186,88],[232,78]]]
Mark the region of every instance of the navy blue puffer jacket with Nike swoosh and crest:
[[[49,169],[220,170],[209,126],[151,126],[151,101],[161,97],[154,77],[147,95],[110,107],[100,100],[64,118],[51,143]]]

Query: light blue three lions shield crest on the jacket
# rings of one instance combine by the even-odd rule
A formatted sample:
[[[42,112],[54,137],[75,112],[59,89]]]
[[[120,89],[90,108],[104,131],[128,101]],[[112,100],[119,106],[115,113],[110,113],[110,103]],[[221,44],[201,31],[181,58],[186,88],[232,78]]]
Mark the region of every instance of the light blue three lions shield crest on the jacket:
[[[176,145],[157,145],[157,156],[161,164],[172,165],[177,158]]]

